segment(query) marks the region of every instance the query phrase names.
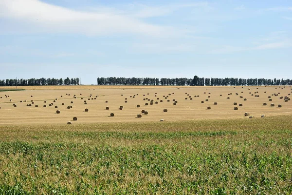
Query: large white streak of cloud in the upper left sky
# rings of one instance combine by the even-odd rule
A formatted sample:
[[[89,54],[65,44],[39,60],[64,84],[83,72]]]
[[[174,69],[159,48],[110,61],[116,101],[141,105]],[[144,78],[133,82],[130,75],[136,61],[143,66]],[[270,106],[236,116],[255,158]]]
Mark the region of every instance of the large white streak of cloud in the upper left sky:
[[[147,24],[122,14],[76,11],[40,0],[1,0],[0,18],[21,22],[21,31],[79,33],[86,35],[140,34],[173,36],[171,27]],[[4,29],[5,30],[5,29]]]

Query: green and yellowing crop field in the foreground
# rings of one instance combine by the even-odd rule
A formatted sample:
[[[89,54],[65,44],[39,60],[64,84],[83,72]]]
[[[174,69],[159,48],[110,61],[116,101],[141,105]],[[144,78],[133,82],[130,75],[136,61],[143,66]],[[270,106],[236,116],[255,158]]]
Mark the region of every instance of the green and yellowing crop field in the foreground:
[[[0,194],[292,194],[292,116],[0,125]]]

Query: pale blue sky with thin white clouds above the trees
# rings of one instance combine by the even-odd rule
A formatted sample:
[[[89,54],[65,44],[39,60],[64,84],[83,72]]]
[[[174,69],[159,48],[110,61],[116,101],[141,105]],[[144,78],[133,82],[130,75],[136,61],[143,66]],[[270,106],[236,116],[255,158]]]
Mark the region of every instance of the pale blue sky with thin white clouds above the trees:
[[[0,0],[0,79],[291,73],[291,0]]]

